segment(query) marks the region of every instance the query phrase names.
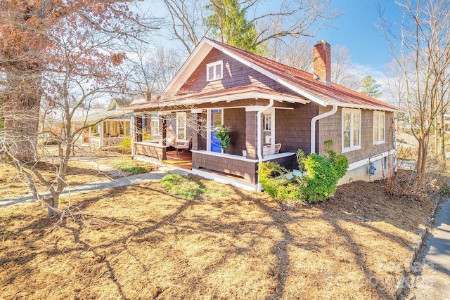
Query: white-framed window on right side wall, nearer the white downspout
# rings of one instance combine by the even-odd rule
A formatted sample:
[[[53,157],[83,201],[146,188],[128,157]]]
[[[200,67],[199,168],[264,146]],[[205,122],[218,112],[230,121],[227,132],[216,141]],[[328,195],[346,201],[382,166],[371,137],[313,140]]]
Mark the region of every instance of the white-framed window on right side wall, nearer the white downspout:
[[[361,111],[342,109],[342,152],[361,148]]]

